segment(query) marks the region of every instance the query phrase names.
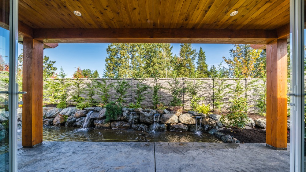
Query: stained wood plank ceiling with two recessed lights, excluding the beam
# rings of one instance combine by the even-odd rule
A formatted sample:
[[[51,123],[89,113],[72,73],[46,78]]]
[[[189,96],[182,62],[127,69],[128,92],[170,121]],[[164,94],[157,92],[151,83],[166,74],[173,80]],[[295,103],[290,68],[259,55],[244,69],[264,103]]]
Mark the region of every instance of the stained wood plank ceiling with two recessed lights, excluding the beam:
[[[19,0],[19,20],[32,28],[271,30],[289,23],[289,0]]]

